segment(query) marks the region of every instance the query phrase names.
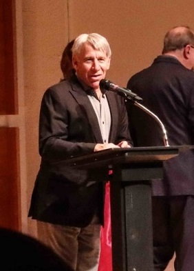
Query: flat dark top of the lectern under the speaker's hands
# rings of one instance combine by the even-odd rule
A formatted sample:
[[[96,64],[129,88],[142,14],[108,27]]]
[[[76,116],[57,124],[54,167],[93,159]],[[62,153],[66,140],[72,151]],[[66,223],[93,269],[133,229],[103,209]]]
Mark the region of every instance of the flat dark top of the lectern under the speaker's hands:
[[[63,163],[70,167],[107,167],[117,163],[151,163],[166,161],[176,157],[180,152],[193,149],[194,146],[161,146],[161,147],[133,147],[111,148],[65,159]],[[59,162],[60,163],[60,162]]]

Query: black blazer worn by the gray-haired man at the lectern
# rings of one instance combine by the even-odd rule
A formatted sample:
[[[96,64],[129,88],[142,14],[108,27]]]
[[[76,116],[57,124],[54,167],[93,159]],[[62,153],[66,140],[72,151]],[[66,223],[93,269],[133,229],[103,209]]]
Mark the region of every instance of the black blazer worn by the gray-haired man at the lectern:
[[[112,92],[106,96],[111,110],[109,142],[131,142],[124,100]],[[41,167],[32,193],[30,217],[83,227],[97,211],[103,224],[107,169],[78,170],[63,163],[69,157],[94,152],[96,143],[103,143],[98,119],[76,77],[49,88],[41,103]]]

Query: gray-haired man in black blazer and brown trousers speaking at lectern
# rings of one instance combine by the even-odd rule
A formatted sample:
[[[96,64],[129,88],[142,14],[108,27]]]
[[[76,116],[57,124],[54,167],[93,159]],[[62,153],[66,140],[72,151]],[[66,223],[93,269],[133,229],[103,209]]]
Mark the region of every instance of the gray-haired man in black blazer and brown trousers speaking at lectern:
[[[111,61],[105,37],[80,34],[72,47],[75,74],[43,94],[41,167],[29,217],[39,239],[76,271],[98,270],[108,169],[69,168],[65,159],[132,144],[122,97],[100,90]]]

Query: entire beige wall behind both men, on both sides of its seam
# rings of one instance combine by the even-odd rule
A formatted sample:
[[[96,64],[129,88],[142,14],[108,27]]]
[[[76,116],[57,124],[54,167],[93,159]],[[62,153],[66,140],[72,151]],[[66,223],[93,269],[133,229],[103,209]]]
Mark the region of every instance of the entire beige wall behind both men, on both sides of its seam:
[[[107,37],[112,49],[107,79],[126,86],[129,77],[151,64],[162,50],[169,28],[194,28],[193,0],[15,0],[17,3],[18,74],[21,124],[23,228],[39,170],[39,107],[45,89],[61,77],[59,63],[68,40],[83,32]],[[27,205],[27,206],[26,206]]]

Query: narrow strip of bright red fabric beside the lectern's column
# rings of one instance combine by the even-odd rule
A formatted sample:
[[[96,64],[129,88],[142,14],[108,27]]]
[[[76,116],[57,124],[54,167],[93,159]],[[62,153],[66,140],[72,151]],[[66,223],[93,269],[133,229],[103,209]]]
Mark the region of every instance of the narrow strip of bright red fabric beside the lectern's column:
[[[101,227],[100,234],[100,261],[98,271],[112,270],[111,252],[111,208],[110,208],[110,183],[106,184],[105,191],[105,226]]]

